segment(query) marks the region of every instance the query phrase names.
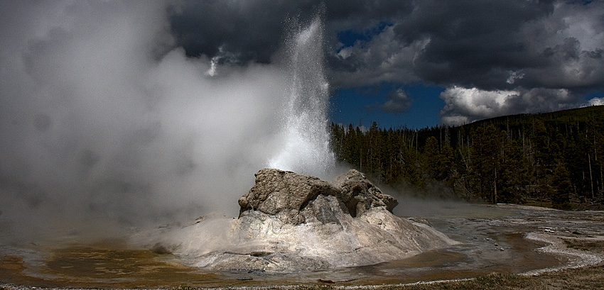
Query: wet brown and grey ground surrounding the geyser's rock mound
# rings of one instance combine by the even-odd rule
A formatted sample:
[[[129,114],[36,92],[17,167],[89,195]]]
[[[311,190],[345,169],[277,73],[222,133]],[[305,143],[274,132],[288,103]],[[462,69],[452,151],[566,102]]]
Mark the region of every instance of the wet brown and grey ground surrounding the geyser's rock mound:
[[[603,261],[604,252],[568,249],[566,245],[604,245],[604,211],[455,203],[428,213],[419,210],[413,204],[401,209],[406,216],[421,216],[417,221],[430,223],[460,244],[405,260],[295,274],[254,269],[207,272],[185,267],[169,253],[132,249],[121,242],[0,245],[0,281],[60,288],[398,284],[463,279],[492,272],[539,273]]]

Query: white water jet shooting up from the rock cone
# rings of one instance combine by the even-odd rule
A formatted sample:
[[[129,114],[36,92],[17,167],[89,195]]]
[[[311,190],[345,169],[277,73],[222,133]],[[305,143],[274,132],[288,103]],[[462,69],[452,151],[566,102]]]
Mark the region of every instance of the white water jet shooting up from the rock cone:
[[[323,23],[320,16],[306,28],[293,29],[286,43],[289,60],[288,103],[284,108],[283,143],[269,167],[326,177],[335,166],[328,133],[329,84],[325,78]]]

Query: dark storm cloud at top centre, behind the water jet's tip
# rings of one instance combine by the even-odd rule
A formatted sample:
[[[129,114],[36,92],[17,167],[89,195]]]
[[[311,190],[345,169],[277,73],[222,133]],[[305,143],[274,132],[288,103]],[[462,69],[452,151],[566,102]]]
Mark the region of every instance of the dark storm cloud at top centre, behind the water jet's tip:
[[[171,28],[187,55],[225,57],[221,61],[271,62],[290,18],[306,22],[323,7],[328,41],[340,30],[365,30],[384,18],[409,11],[400,1],[185,1],[171,7]]]

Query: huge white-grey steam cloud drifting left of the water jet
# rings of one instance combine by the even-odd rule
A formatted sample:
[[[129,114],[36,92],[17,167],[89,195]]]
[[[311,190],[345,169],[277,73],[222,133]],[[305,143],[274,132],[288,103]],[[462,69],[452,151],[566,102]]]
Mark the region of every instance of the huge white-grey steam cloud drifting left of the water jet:
[[[161,2],[14,5],[0,16],[0,240],[237,213],[279,145],[286,65],[186,57]]]

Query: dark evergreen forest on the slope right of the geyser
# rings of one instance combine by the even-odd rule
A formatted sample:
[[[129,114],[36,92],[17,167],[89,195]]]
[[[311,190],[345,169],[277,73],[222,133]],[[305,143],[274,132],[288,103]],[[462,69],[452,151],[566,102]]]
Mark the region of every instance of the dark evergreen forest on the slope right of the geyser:
[[[604,106],[423,129],[331,124],[338,160],[419,197],[604,205]]]

